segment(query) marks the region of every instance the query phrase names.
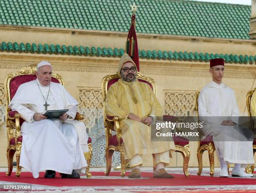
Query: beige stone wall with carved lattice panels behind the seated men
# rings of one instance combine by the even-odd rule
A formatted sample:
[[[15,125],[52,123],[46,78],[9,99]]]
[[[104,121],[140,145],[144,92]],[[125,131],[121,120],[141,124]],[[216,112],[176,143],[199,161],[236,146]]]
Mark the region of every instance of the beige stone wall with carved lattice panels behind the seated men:
[[[89,45],[106,46],[121,48],[125,42],[126,33],[102,33],[85,32],[77,30],[75,35],[71,30],[45,30],[45,29],[13,29],[0,28],[0,42],[23,42],[23,43],[58,43],[60,45]],[[37,34],[37,35],[36,35]],[[139,35],[140,49],[154,50],[177,50],[177,51],[197,51],[207,53],[234,53],[256,55],[255,40],[220,40],[220,39],[202,39],[173,36]],[[0,52],[0,97],[1,85],[5,76],[29,64],[37,64],[41,60],[48,60],[54,65],[54,73],[59,73],[65,81],[67,90],[79,101],[89,101],[90,108],[102,108],[101,81],[107,74],[113,74],[116,71],[118,58],[103,58],[90,56],[73,55],[48,55],[31,53],[7,53]],[[163,106],[163,111],[193,113],[194,100],[193,93],[204,87],[211,80],[208,72],[208,64],[205,62],[189,61],[170,61],[170,60],[147,60],[141,59],[141,73],[154,78],[157,84],[157,98]],[[256,87],[256,65],[250,64],[227,64],[225,66],[225,77],[223,82],[233,88],[236,93],[237,103],[241,115],[247,115],[245,96],[248,90]],[[94,97],[83,98],[82,95],[92,95]],[[180,103],[175,102],[173,98],[183,98],[185,108],[175,109],[173,106],[180,107]],[[1,101],[1,98],[0,98]],[[0,103],[1,104],[1,103]],[[84,103],[86,106],[87,103]],[[166,104],[169,104],[167,107]],[[88,112],[87,112],[88,113]],[[95,110],[91,110],[90,115],[95,116]],[[1,117],[1,115],[0,115]],[[89,116],[90,117],[90,116]],[[88,119],[88,125],[90,120]],[[6,130],[4,125],[0,126],[0,166],[6,166]],[[190,167],[197,167],[197,142],[190,143],[191,158]],[[151,165],[150,159],[146,165]],[[182,156],[175,153],[170,159],[171,166],[182,166]],[[204,166],[209,165],[208,155],[204,154]],[[218,159],[215,156],[215,165],[218,166]]]

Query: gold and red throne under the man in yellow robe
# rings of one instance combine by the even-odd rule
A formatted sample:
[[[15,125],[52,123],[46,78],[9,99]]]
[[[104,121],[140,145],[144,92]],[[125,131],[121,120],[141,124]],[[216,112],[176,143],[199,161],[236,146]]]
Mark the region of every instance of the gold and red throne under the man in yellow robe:
[[[109,175],[111,166],[112,166],[112,155],[114,151],[120,152],[120,160],[121,160],[121,177],[124,177],[127,161],[124,159],[124,152],[123,152],[123,139],[121,134],[121,128],[119,126],[119,118],[118,116],[110,117],[105,113],[105,100],[107,97],[107,92],[110,86],[118,81],[120,78],[118,73],[113,75],[106,75],[102,79],[102,95],[104,101],[104,126],[105,126],[105,133],[106,133],[106,149],[105,149],[105,158],[106,158],[106,171],[105,175]],[[137,72],[138,81],[147,83],[152,88],[154,94],[156,95],[156,83],[152,78],[143,76],[140,72]],[[174,116],[164,115],[164,120],[173,120]],[[115,130],[114,130],[115,128]],[[113,131],[116,132],[116,135],[113,135]],[[183,171],[184,175],[187,177],[189,176],[188,173],[188,163],[190,158],[190,150],[189,150],[189,141],[182,137],[175,137],[174,143],[176,147],[176,152],[180,152],[183,155]],[[154,169],[156,168],[156,164],[154,161]]]

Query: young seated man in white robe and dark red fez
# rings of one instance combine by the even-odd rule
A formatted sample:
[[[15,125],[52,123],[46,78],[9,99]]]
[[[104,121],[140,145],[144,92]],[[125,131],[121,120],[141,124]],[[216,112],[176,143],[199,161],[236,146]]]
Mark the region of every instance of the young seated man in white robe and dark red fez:
[[[205,135],[213,135],[216,153],[220,160],[220,177],[228,177],[228,163],[235,163],[232,176],[251,177],[245,173],[247,164],[254,164],[252,141],[236,140],[241,133],[234,128],[238,124],[239,110],[234,91],[222,83],[224,60],[210,60],[212,81],[201,91],[198,98],[198,113],[204,121],[202,128]],[[211,118],[207,118],[207,117]],[[233,141],[227,141],[232,139]]]

